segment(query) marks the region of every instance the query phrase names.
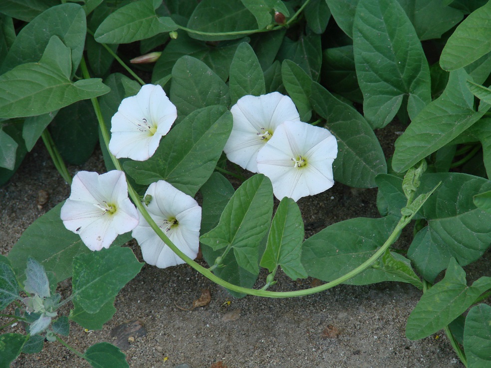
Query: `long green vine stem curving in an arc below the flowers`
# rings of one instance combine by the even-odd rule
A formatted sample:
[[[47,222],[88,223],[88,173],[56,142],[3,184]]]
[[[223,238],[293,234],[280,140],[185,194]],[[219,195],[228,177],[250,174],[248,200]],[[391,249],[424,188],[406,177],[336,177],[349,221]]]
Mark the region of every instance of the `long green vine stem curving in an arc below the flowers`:
[[[87,66],[85,64],[85,60],[82,58],[80,62],[80,66],[82,68],[82,72],[85,78],[90,78],[90,75],[87,70]],[[102,118],[102,113],[100,110],[99,103],[97,101],[97,98],[92,98],[92,105],[94,107],[95,114],[97,116],[98,122],[99,122],[99,127],[101,129],[102,137],[104,140],[104,144],[106,145],[106,148],[109,147],[109,132],[107,130],[107,127],[104,123],[104,120]],[[110,154],[110,153],[109,153]],[[111,160],[116,168],[116,170],[123,171],[123,168],[119,161],[112,155],[110,154]],[[149,223],[150,227],[155,231],[155,233],[164,241],[164,243],[172,249],[174,253],[176,253],[182,260],[184,260],[187,264],[189,264],[191,267],[193,267],[196,271],[200,272],[203,276],[207,277],[211,281],[229,289],[233,290],[238,293],[244,293],[248,295],[255,295],[255,296],[261,296],[261,297],[269,297],[269,298],[288,298],[288,297],[296,297],[296,296],[303,296],[303,295],[309,295],[309,294],[314,294],[318,293],[320,291],[324,291],[327,289],[330,289],[336,285],[339,285],[350,278],[358,275],[359,273],[363,272],[365,269],[367,269],[377,258],[382,256],[387,248],[394,243],[402,229],[411,221],[413,218],[414,214],[417,212],[416,209],[414,213],[412,213],[409,216],[402,216],[399,222],[397,223],[396,227],[390,234],[389,238],[385,241],[385,243],[365,262],[363,262],[361,265],[353,269],[352,271],[346,273],[345,275],[330,281],[324,285],[320,285],[317,287],[309,288],[309,289],[304,289],[304,290],[297,290],[297,291],[287,291],[287,292],[276,292],[276,291],[267,291],[267,290],[256,290],[256,289],[249,289],[245,288],[242,286],[237,286],[234,284],[231,284],[222,278],[216,276],[213,274],[210,269],[205,268],[195,262],[193,259],[188,257],[186,254],[184,254],[168,237],[167,235],[162,231],[162,229],[155,223],[153,218],[150,216],[150,214],[147,212],[145,206],[142,204],[141,199],[139,194],[135,191],[135,189],[131,186],[130,183],[128,183],[128,194],[135,203],[136,207],[142,214],[142,216],[147,220]],[[423,203],[421,203],[422,205]]]

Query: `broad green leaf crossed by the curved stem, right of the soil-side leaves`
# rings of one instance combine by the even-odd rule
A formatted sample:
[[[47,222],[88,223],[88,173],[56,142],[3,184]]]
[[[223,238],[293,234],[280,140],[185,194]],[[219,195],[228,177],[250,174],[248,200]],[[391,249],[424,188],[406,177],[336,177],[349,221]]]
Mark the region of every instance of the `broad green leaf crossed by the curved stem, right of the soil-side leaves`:
[[[392,233],[398,218],[352,218],[327,226],[303,242],[302,264],[311,277],[335,280],[370,258]],[[368,268],[346,283],[366,285],[381,281],[403,281],[380,267]]]

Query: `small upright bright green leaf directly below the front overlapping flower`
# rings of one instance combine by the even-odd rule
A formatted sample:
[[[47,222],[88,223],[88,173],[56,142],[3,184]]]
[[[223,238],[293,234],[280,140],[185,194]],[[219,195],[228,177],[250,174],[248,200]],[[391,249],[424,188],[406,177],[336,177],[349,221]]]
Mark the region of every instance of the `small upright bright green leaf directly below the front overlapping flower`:
[[[303,237],[300,208],[293,199],[284,197],[271,222],[261,267],[273,272],[276,267],[281,266],[293,280],[306,278],[307,273],[300,262]]]

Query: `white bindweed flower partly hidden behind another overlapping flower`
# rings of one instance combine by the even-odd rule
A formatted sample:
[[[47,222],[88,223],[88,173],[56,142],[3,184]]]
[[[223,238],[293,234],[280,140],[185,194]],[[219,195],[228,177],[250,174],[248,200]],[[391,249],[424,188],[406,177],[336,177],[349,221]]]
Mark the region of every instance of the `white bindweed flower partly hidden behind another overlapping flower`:
[[[279,92],[244,96],[230,110],[234,126],[224,152],[227,158],[244,169],[257,173],[257,152],[284,121],[299,121],[295,104]]]

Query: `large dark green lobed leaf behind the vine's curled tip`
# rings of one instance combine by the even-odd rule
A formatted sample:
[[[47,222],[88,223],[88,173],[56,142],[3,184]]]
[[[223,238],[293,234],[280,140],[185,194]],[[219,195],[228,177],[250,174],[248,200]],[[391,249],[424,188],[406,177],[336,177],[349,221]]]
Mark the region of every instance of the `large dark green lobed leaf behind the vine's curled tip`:
[[[466,266],[479,259],[491,243],[491,215],[473,203],[473,196],[490,190],[491,182],[460,173],[425,174],[416,194],[439,182],[442,184],[422,208],[428,225],[416,234],[408,250],[416,270],[430,282],[452,257]]]

